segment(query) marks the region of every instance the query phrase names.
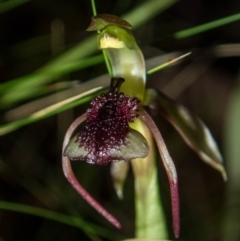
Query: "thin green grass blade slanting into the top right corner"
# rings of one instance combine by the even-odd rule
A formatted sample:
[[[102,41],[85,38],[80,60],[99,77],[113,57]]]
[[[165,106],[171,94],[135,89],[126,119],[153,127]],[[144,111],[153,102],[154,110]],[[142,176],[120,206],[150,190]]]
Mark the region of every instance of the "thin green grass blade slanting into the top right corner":
[[[226,24],[229,24],[232,22],[236,22],[239,20],[240,20],[240,13],[237,13],[237,14],[234,14],[234,15],[231,15],[231,16],[228,16],[225,18],[221,18],[221,19],[218,19],[218,20],[215,20],[212,22],[208,22],[208,23],[205,23],[205,24],[193,27],[193,28],[179,31],[179,32],[175,33],[173,36],[176,39],[187,38],[187,37],[190,37],[190,36],[202,33],[202,32],[206,32],[211,29],[218,28],[223,25],[226,25]]]

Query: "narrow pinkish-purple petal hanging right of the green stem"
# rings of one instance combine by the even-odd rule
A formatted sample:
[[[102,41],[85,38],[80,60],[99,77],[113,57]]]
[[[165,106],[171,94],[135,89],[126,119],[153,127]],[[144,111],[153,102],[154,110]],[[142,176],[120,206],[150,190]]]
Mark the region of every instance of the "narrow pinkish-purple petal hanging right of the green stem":
[[[174,230],[175,237],[178,238],[180,233],[180,212],[179,212],[179,193],[178,193],[178,179],[177,179],[176,168],[175,168],[174,162],[172,161],[171,156],[169,155],[169,152],[164,143],[162,135],[158,130],[158,127],[156,126],[153,119],[144,109],[141,110],[139,118],[142,121],[144,121],[144,123],[150,129],[156,141],[160,156],[162,158],[163,166],[167,172],[168,181],[170,185],[170,193],[171,193],[173,230]]]

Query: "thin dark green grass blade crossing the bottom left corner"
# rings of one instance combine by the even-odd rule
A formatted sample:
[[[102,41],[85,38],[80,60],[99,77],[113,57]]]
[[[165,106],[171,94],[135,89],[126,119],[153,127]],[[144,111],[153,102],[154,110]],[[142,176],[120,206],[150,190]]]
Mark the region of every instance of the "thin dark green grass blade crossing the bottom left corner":
[[[115,238],[117,239],[123,238],[120,235],[116,234],[116,232],[112,233],[111,231],[105,228],[102,228],[92,223],[85,222],[79,215],[77,217],[74,217],[74,216],[46,210],[43,208],[37,208],[37,207],[28,206],[28,205],[5,202],[5,201],[0,201],[0,209],[35,215],[35,216],[50,219],[56,222],[64,223],[76,228],[80,228],[82,231],[85,232],[85,234],[91,240],[96,240],[97,235],[108,238],[110,240],[115,240]]]

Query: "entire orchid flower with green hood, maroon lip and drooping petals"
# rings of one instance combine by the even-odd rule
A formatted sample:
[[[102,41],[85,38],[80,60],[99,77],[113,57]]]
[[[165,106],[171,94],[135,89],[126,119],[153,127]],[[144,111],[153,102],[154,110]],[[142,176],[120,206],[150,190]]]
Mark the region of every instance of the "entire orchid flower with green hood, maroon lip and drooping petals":
[[[110,61],[112,82],[108,93],[93,99],[87,112],[69,127],[63,142],[63,170],[73,188],[109,222],[120,228],[119,221],[78,182],[70,161],[97,165],[111,163],[114,186],[120,198],[131,163],[137,183],[136,196],[146,199],[150,183],[157,180],[153,137],[169,180],[173,230],[177,238],[180,233],[177,172],[148,109],[166,118],[199,157],[222,174],[224,180],[227,176],[221,154],[205,124],[160,91],[146,89],[145,61],[131,28],[128,22],[116,16],[99,14],[92,18],[87,30],[98,31],[98,47]],[[72,137],[84,122],[82,131]],[[146,200],[145,204],[141,198],[139,200],[138,209],[144,210],[144,205],[151,205]]]

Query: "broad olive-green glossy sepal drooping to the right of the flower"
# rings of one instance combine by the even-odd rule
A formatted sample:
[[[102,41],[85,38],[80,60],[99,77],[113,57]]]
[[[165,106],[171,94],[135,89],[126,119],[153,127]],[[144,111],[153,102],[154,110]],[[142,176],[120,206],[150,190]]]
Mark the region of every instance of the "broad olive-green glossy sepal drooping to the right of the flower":
[[[199,157],[217,169],[226,181],[227,175],[223,167],[222,156],[205,124],[185,107],[178,105],[161,92],[148,89],[146,96],[146,104],[151,109],[163,115]]]

